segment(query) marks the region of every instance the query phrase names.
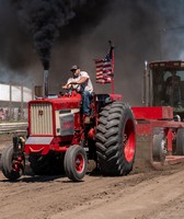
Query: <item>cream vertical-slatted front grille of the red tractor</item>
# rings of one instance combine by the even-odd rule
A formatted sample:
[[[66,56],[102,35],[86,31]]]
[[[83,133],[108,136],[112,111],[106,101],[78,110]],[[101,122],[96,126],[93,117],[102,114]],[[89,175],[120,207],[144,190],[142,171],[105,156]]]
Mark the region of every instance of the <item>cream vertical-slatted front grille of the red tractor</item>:
[[[53,111],[50,103],[31,104],[31,134],[53,135]]]

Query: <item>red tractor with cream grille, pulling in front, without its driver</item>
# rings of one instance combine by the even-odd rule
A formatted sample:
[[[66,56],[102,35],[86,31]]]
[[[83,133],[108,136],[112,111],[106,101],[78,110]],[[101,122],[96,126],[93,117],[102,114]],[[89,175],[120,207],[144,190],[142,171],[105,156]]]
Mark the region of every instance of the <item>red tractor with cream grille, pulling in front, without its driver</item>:
[[[126,175],[136,150],[135,118],[119,94],[94,94],[90,123],[81,113],[81,94],[70,91],[28,103],[27,137],[13,137],[2,152],[2,172],[9,180],[24,173],[25,155],[37,174],[65,174],[74,182],[94,160],[103,175]]]

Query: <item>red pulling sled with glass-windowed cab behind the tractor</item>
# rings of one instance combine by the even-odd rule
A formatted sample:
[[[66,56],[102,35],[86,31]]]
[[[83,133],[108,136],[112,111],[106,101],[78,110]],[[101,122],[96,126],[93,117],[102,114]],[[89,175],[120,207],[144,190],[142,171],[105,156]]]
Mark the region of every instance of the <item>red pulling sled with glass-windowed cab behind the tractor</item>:
[[[137,155],[154,166],[184,161],[184,61],[146,64],[143,88],[145,106],[131,108],[140,146]]]

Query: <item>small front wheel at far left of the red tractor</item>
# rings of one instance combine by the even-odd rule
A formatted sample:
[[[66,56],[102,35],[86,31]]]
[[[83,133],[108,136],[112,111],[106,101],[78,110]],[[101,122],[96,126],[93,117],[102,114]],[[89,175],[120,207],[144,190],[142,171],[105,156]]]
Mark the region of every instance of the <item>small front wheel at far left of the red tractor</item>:
[[[3,149],[1,154],[2,173],[7,178],[14,181],[21,177],[25,168],[24,154],[20,159],[13,158],[13,146]]]

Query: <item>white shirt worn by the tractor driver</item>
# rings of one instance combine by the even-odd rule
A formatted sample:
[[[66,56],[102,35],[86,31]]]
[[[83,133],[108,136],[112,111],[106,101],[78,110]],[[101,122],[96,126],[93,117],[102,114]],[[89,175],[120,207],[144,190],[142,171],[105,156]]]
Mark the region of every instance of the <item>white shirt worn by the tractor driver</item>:
[[[90,93],[92,93],[93,92],[93,85],[92,85],[91,79],[90,79],[87,71],[80,71],[80,73],[78,74],[77,78],[68,79],[67,83],[70,83],[70,82],[73,82],[73,81],[78,82],[82,77],[88,78],[88,80],[82,84],[72,84],[73,89],[77,89],[78,92],[89,91]]]

